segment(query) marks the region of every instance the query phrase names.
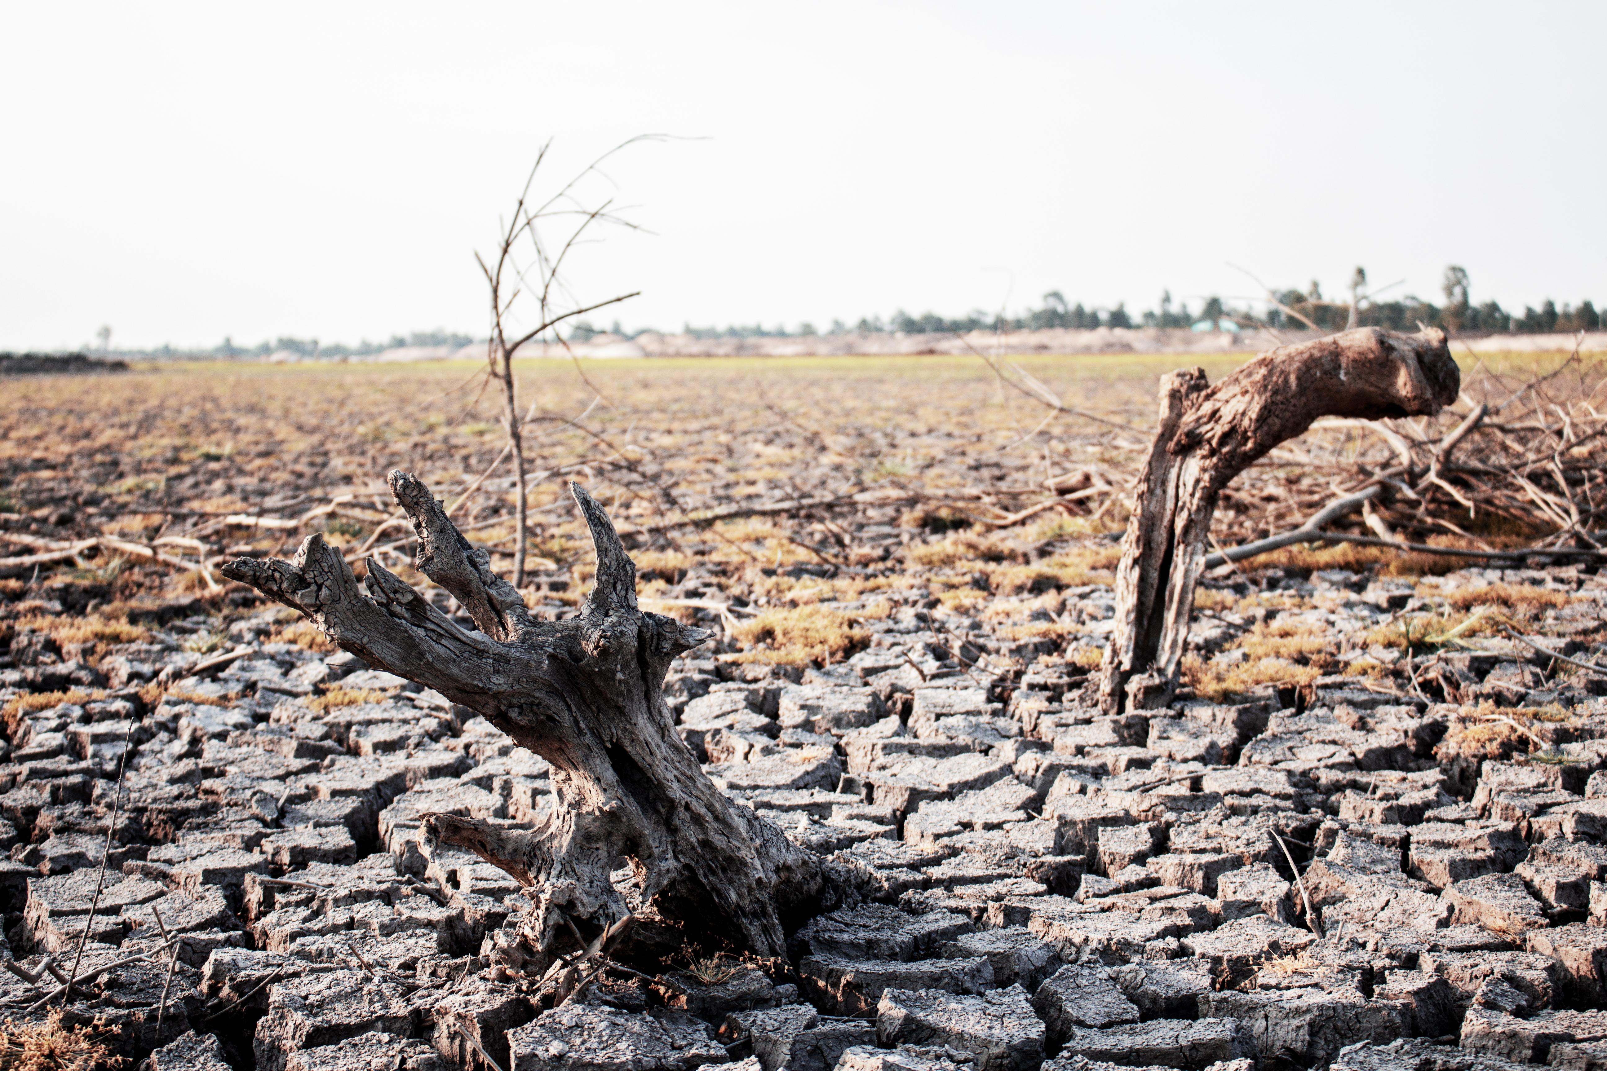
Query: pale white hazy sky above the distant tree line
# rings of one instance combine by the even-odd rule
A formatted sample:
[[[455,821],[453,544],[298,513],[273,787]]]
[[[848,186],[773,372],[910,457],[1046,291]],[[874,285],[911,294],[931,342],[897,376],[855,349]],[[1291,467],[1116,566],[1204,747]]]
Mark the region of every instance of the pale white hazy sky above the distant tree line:
[[[652,234],[572,273],[627,328],[1257,292],[1229,265],[1602,302],[1604,53],[1599,2],[0,0],[0,348],[484,334],[537,148],[648,132],[607,193]]]

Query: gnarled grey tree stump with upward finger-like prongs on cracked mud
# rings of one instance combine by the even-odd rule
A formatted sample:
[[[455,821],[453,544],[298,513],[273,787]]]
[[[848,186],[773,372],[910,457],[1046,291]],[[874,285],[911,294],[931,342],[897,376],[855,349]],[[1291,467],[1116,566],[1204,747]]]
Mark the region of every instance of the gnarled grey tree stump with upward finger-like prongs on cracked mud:
[[[458,626],[371,557],[365,596],[320,535],[289,562],[239,559],[223,575],[301,610],[370,665],[479,711],[553,764],[556,804],[538,827],[432,814],[424,832],[517,878],[543,949],[567,931],[566,917],[593,926],[624,917],[611,873],[628,864],[644,904],[638,918],[784,955],[783,920],[820,899],[820,861],[720,793],[664,702],[670,660],[709,633],[638,610],[636,567],[607,514],[575,483],[596,586],[577,618],[540,621],[429,488],[400,470],[387,478],[418,531],[419,572],[450,591],[479,631]]]

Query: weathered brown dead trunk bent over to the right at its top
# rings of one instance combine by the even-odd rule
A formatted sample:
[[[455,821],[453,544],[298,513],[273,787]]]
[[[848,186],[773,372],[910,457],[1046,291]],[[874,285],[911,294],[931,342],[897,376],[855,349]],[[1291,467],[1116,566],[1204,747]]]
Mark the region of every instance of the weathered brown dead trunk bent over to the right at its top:
[[[1218,382],[1160,379],[1160,422],[1138,477],[1101,665],[1107,713],[1172,702],[1216,498],[1239,472],[1321,416],[1429,416],[1456,400],[1445,332],[1345,331],[1261,353]]]

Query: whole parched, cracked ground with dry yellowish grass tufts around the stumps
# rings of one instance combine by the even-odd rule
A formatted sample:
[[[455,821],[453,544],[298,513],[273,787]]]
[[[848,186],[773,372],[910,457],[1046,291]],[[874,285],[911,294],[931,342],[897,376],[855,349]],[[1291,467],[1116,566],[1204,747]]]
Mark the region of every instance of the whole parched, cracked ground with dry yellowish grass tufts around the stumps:
[[[474,369],[5,382],[0,1040],[96,1024],[159,1069],[275,1071],[1607,1060],[1607,578],[1377,548],[1221,567],[1173,708],[1102,716],[1122,491],[1172,360],[522,369],[527,602],[585,591],[580,480],[644,605],[718,633],[669,682],[688,745],[852,886],[784,962],[688,949],[562,1007],[508,955],[516,883],[418,817],[530,822],[545,763],[217,576],[321,531],[427,588],[391,467],[509,573]],[[1218,540],[1326,493],[1298,450]],[[51,1026],[74,965],[104,971]]]

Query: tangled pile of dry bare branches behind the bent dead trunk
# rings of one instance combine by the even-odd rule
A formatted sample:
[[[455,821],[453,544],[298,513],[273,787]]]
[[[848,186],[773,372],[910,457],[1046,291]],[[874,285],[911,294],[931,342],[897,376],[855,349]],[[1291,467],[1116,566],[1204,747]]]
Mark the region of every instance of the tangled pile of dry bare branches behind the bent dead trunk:
[[[1261,514],[1282,533],[1207,567],[1316,541],[1358,509],[1351,527],[1363,531],[1321,538],[1462,557],[1596,557],[1607,525],[1604,382],[1602,366],[1578,353],[1523,377],[1480,363],[1437,417],[1319,421],[1223,496],[1231,527]],[[1318,511],[1316,523],[1279,523]]]

